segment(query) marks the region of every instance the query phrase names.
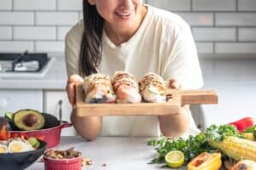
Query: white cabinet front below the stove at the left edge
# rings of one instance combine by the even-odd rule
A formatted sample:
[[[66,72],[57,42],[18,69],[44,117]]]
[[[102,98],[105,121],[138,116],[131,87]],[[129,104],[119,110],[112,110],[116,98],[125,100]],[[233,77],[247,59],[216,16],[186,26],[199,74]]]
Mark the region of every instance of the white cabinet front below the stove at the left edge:
[[[15,112],[20,109],[43,111],[43,90],[1,89],[0,116],[5,111]]]

